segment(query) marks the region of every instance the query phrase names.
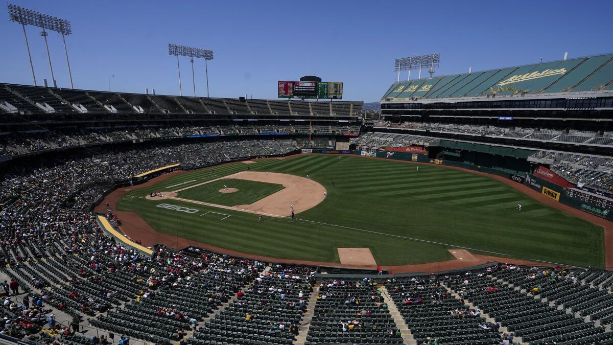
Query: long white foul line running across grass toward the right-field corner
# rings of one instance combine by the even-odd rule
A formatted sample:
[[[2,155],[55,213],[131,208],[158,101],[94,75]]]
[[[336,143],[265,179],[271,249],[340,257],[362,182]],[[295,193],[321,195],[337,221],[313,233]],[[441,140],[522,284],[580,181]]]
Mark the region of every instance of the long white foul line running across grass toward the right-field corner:
[[[173,197],[173,198],[170,198],[170,199],[179,200],[179,201],[185,201],[186,203],[194,203],[194,204],[201,204],[201,205],[205,205],[205,206],[218,207],[218,208],[221,208],[221,209],[231,209],[231,210],[239,211],[239,212],[248,212],[248,213],[254,213],[254,214],[269,215],[269,216],[275,217],[275,218],[289,218],[287,215],[278,215],[278,214],[272,214],[272,213],[266,213],[266,212],[251,211],[251,210],[246,210],[246,209],[237,209],[237,208],[234,208],[232,206],[224,206],[224,205],[218,205],[218,204],[205,203],[203,201],[189,200],[189,199],[183,199],[183,198],[177,198],[177,197]],[[362,231],[362,232],[365,232],[365,233],[372,233],[372,234],[375,234],[375,235],[383,235],[383,236],[390,236],[390,237],[395,237],[395,238],[408,239],[409,241],[424,242],[424,243],[429,243],[429,244],[438,244],[439,246],[446,246],[446,247],[466,249],[466,250],[474,250],[476,252],[483,252],[483,253],[489,253],[489,254],[494,254],[494,255],[503,255],[505,257],[512,257],[511,254],[492,252],[490,250],[476,249],[476,248],[471,248],[471,247],[456,246],[455,244],[448,244],[448,243],[443,243],[443,242],[428,241],[427,239],[419,239],[419,238],[412,238],[412,237],[406,237],[406,236],[400,236],[400,235],[394,235],[394,234],[380,233],[378,231],[371,231],[371,230],[364,230],[364,229],[359,229],[359,228],[345,227],[345,225],[337,225],[337,224],[332,224],[332,223],[316,222],[315,220],[308,220],[308,219],[297,219],[297,220],[302,221],[302,222],[309,222],[309,223],[320,224],[320,225],[329,225],[330,227],[337,227],[337,228],[345,228],[345,229],[349,229],[349,230]],[[520,259],[520,260],[522,260],[522,259]],[[524,258],[524,260],[550,263],[552,265],[568,266],[568,267],[571,267],[571,268],[584,268],[584,267],[581,267],[581,266],[567,265],[565,263],[550,262],[550,261],[538,260],[538,259],[533,259],[533,258]]]

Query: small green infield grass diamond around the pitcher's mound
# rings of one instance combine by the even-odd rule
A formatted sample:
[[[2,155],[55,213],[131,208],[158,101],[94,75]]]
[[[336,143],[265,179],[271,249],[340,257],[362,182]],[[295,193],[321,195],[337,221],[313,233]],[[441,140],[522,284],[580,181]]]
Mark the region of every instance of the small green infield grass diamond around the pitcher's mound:
[[[228,188],[237,188],[238,191],[234,193],[219,192],[224,186]],[[253,204],[282,189],[283,185],[280,184],[269,184],[267,182],[240,179],[222,179],[181,190],[181,192],[178,192],[177,196],[189,200],[204,201],[205,203],[235,206]]]

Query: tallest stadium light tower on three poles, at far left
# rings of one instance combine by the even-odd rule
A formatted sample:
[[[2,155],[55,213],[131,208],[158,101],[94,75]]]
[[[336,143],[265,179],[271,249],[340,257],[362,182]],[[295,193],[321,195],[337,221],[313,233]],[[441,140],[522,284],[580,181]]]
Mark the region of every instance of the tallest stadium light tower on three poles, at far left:
[[[74,88],[72,84],[72,72],[70,72],[70,60],[68,60],[68,48],[66,47],[66,36],[72,34],[72,27],[70,21],[53,17],[51,15],[42,14],[35,10],[26,9],[25,7],[7,4],[9,10],[9,20],[20,23],[23,28],[23,36],[26,39],[26,48],[28,50],[28,58],[30,60],[30,68],[32,69],[32,78],[34,79],[34,85],[36,86],[36,77],[34,76],[34,65],[32,65],[32,56],[30,55],[30,47],[28,45],[28,36],[26,35],[26,25],[34,25],[42,28],[42,33],[45,39],[45,47],[47,48],[47,58],[49,59],[49,69],[51,70],[51,81],[53,86],[55,85],[55,77],[53,76],[53,66],[51,65],[51,55],[49,54],[49,46],[47,44],[48,33],[45,29],[55,31],[62,35],[64,41],[64,51],[66,52],[66,63],[68,64],[68,76],[70,77],[70,87]]]

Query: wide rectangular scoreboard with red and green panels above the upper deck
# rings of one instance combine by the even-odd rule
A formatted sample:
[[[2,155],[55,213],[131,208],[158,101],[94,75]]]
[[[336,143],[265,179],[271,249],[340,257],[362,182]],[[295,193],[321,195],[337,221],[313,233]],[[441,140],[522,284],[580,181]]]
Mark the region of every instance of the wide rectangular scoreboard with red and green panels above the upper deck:
[[[343,99],[343,83],[278,82],[279,98]]]

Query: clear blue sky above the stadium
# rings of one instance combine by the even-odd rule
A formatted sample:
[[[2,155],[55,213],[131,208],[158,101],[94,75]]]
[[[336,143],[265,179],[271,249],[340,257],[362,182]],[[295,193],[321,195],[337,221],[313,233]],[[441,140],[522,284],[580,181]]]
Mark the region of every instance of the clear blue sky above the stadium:
[[[613,1],[39,1],[11,3],[72,21],[75,88],[178,95],[167,44],[215,50],[211,96],[276,98],[277,80],[343,82],[345,99],[378,101],[394,58],[441,53],[436,75],[613,50]],[[4,5],[3,5],[4,6]],[[21,25],[0,20],[0,81],[32,85]],[[37,82],[51,79],[40,29],[26,26]],[[69,87],[61,36],[49,37],[59,87]],[[196,94],[206,96],[204,61]],[[426,76],[426,71],[422,76]],[[406,72],[402,76],[406,79]],[[416,77],[413,72],[412,76]],[[181,58],[183,95],[191,66]]]

